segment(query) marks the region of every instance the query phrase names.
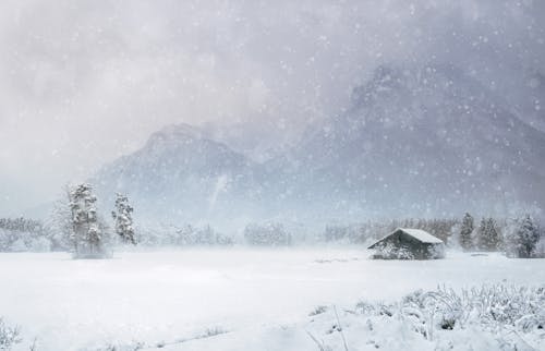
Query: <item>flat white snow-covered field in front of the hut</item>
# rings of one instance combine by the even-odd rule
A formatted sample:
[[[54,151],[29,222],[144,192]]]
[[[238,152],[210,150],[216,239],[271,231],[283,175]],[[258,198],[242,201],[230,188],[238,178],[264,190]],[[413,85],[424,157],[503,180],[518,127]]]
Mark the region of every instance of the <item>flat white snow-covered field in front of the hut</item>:
[[[117,253],[105,261],[0,254],[0,316],[21,327],[14,350],[28,350],[35,338],[40,351],[138,343],[318,350],[304,327],[318,305],[342,311],[438,285],[545,282],[545,259],[449,252],[440,261],[385,262],[368,255],[358,247]]]

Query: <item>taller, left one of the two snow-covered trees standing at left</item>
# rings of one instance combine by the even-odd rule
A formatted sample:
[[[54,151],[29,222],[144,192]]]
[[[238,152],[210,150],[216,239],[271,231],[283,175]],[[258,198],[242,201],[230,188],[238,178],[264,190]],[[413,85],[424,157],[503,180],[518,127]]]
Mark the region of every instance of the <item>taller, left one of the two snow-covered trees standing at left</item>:
[[[71,209],[71,242],[75,258],[104,258],[105,228],[99,222],[96,209],[96,196],[89,184],[80,184],[69,192]]]

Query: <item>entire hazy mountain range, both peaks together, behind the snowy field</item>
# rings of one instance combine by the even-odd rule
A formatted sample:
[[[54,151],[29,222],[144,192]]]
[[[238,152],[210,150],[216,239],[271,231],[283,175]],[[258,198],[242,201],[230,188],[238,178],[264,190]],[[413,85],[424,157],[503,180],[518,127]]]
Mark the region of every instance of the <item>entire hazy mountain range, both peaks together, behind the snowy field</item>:
[[[471,74],[379,66],[350,109],[271,159],[171,125],[94,182],[161,220],[505,214],[545,207],[544,152],[545,134]]]

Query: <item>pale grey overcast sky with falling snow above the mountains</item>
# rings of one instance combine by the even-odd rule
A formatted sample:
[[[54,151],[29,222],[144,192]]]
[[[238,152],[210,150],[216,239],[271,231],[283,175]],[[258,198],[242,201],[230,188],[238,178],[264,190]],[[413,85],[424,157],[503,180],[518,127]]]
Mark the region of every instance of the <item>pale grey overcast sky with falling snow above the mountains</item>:
[[[453,62],[524,110],[540,104],[524,88],[545,73],[544,7],[3,0],[0,215],[55,198],[166,124],[299,131],[378,64]]]

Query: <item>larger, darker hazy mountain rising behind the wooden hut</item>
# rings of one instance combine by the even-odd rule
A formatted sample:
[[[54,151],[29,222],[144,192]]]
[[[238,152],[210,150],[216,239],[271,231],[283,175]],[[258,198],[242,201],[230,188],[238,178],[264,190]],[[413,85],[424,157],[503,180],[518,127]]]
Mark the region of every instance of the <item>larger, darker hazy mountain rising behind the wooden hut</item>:
[[[543,155],[545,135],[461,70],[383,66],[284,165],[296,165],[296,187],[312,184],[307,198],[318,189],[399,215],[486,213],[543,204]]]

